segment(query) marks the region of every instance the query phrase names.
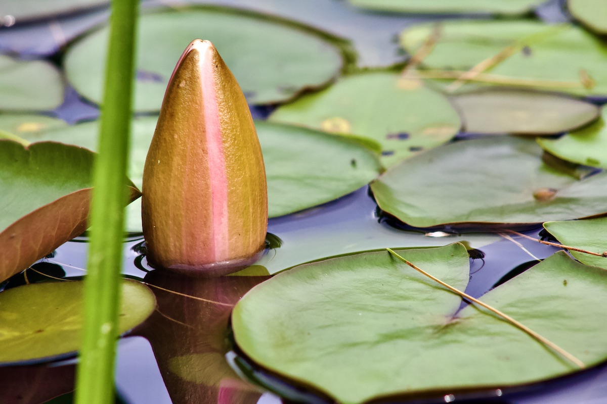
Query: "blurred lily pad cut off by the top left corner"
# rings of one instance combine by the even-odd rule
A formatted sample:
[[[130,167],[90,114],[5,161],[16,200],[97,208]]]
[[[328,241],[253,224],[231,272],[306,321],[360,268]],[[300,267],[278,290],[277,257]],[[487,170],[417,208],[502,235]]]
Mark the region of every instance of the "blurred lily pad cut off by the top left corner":
[[[16,22],[47,18],[61,13],[75,13],[87,8],[109,4],[103,0],[4,0],[2,15],[15,17]]]

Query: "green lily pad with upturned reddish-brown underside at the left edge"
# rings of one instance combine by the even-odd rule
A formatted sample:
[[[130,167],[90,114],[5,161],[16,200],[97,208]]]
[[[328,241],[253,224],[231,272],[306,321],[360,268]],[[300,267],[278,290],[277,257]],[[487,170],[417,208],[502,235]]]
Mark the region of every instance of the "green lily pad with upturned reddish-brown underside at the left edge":
[[[0,141],[0,281],[83,233],[92,160],[80,147]]]

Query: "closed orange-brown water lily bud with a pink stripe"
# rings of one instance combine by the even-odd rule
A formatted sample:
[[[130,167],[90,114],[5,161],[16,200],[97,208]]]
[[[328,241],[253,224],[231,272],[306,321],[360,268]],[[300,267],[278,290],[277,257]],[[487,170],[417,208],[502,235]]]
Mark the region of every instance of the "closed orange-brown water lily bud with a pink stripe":
[[[209,41],[195,39],[177,62],[142,188],[151,265],[223,274],[262,253],[268,190],[259,139],[240,86]]]

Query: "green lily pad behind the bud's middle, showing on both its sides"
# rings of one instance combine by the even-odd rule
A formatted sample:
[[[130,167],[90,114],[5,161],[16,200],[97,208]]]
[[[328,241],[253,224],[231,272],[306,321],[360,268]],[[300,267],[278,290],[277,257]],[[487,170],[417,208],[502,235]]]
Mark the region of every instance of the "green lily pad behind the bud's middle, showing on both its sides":
[[[132,121],[129,178],[141,187],[143,166],[156,116]],[[347,139],[307,128],[256,121],[268,178],[268,214],[282,216],[324,204],[361,188],[381,171],[373,142]],[[1,126],[0,126],[1,128]],[[83,122],[25,140],[57,141],[96,150],[98,122]],[[377,147],[375,145],[375,147]],[[141,232],[141,202],[127,207],[127,230]]]

